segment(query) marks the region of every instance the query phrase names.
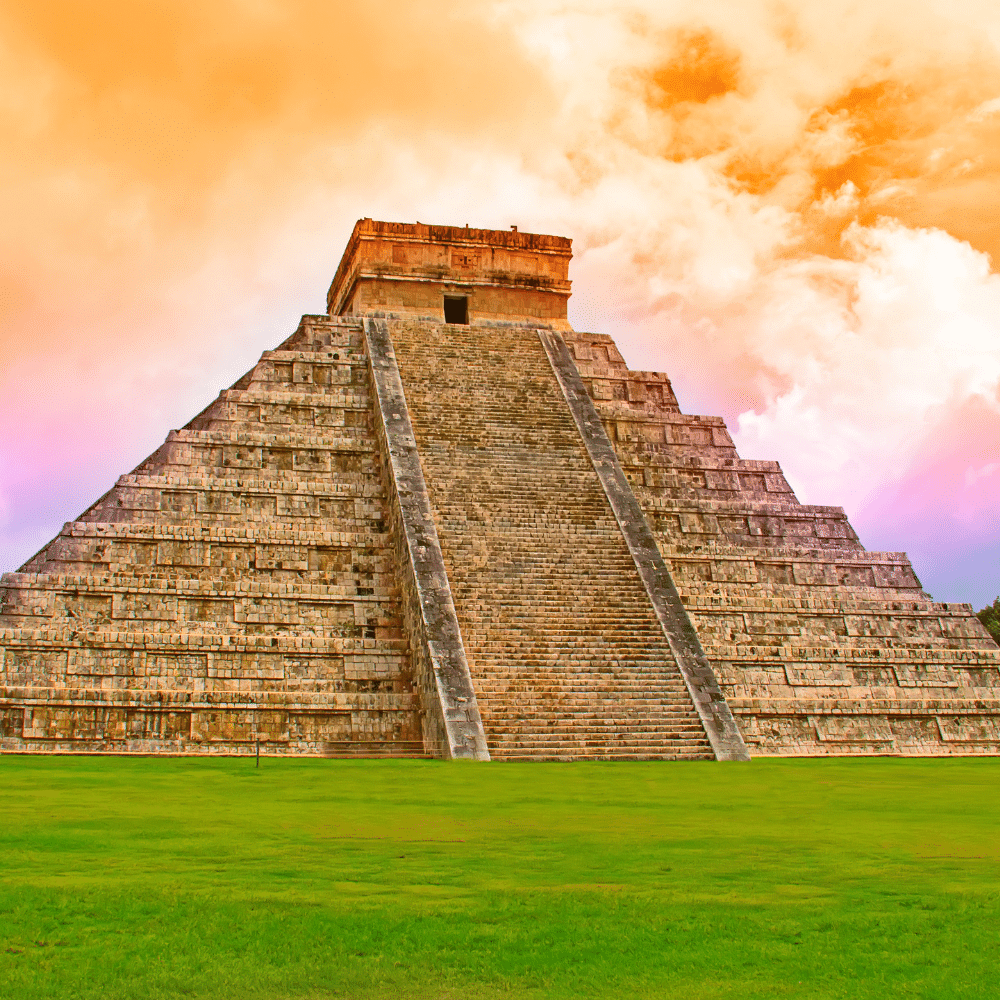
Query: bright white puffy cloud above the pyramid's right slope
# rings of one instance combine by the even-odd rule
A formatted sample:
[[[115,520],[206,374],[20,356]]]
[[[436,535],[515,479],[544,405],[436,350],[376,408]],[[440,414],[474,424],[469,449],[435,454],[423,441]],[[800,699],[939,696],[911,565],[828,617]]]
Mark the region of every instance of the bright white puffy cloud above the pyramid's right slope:
[[[761,282],[760,353],[788,388],[741,414],[737,433],[753,453],[790,444],[807,497],[856,507],[967,400],[1000,410],[1000,277],[940,231],[855,223],[844,242],[846,261]],[[810,281],[818,292],[796,300]]]

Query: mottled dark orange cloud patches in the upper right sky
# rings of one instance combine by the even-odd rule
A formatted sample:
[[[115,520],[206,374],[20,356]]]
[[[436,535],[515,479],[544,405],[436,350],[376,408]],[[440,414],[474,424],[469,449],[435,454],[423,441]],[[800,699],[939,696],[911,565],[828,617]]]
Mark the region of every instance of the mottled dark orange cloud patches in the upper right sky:
[[[657,33],[641,22],[655,42],[619,74],[621,102],[641,98],[650,116],[633,141],[675,161],[716,157],[739,189],[806,213],[803,247],[813,251],[837,255],[851,222],[891,215],[997,257],[982,208],[1000,180],[1000,114],[990,103],[1000,52],[974,31],[956,37],[929,7],[910,11],[924,22],[917,50],[908,48],[912,28],[889,26],[875,45],[858,45],[867,39],[843,6],[831,5],[829,19],[816,10],[742,39],[725,7],[714,8],[713,29],[698,26],[697,7],[686,28]],[[766,26],[764,8],[757,14]],[[845,23],[831,23],[838,15]],[[843,62],[830,65],[839,51]],[[623,120],[620,109],[609,116]],[[810,214],[814,206],[821,211]]]

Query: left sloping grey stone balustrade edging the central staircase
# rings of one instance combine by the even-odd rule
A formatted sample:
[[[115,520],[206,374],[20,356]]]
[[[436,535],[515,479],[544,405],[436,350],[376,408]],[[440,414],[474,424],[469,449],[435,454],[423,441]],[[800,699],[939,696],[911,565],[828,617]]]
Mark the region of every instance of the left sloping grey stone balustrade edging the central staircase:
[[[364,331],[377,402],[376,436],[391,494],[403,618],[424,709],[424,743],[443,757],[489,760],[389,325],[365,319]]]

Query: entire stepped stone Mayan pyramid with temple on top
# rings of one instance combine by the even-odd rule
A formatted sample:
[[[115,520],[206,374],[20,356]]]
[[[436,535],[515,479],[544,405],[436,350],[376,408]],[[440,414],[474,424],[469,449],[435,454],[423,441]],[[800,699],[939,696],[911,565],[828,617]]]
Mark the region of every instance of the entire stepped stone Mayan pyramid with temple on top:
[[[992,754],[1000,648],[566,319],[570,241],[364,219],[0,584],[0,749]]]

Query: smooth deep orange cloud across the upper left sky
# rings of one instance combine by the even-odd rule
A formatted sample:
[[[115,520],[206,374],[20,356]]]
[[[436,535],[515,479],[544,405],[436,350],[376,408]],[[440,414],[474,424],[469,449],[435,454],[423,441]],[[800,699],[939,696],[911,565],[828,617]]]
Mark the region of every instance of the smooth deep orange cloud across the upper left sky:
[[[256,143],[294,155],[372,119],[478,131],[542,90],[509,36],[449,0],[33,0],[2,28],[46,91],[25,131],[49,169],[82,156],[187,196]]]

